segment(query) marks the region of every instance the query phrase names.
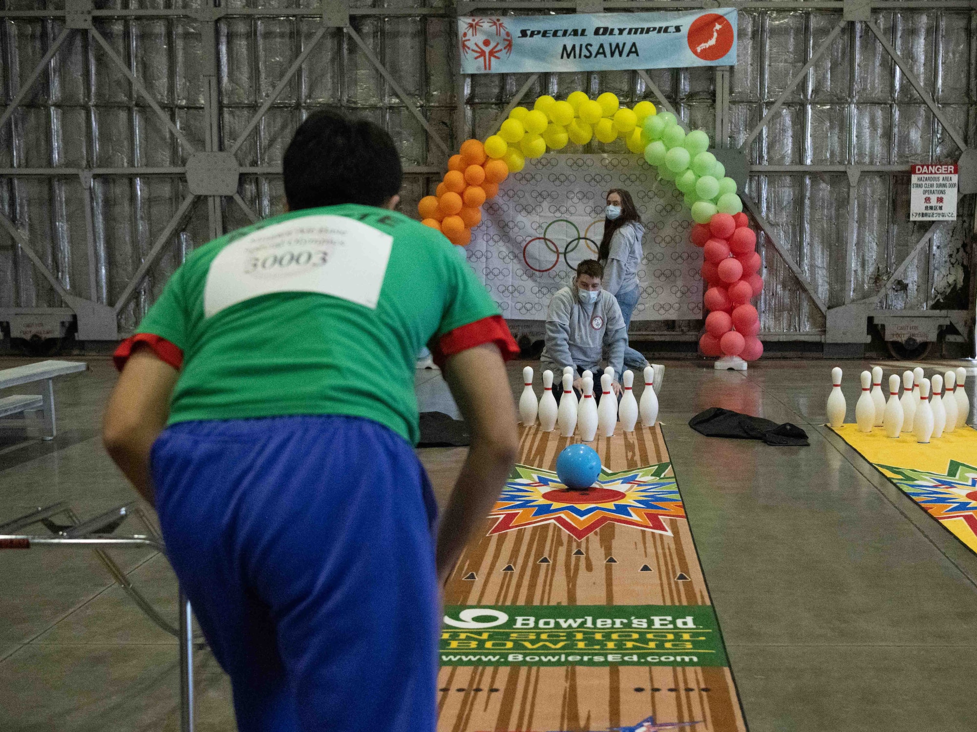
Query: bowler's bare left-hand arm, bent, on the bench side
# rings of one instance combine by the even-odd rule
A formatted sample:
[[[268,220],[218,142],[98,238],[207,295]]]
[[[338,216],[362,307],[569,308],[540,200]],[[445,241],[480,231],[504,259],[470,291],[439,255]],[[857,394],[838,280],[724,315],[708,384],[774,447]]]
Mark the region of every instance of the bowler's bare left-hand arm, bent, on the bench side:
[[[108,454],[150,503],[149,450],[166,426],[179,373],[148,346],[137,345],[108,398],[102,420]]]

